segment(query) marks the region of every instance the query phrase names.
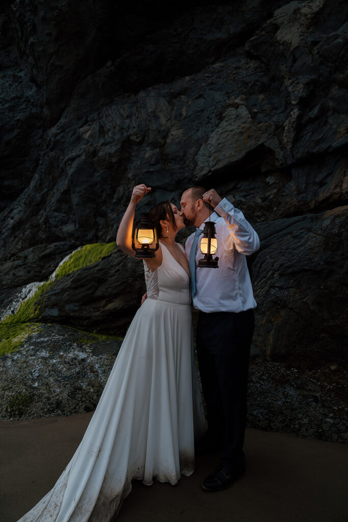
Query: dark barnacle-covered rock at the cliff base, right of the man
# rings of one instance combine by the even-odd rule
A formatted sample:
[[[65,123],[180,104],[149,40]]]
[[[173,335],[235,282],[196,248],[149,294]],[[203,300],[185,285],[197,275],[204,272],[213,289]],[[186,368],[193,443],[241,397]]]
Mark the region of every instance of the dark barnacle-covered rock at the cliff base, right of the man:
[[[310,372],[256,359],[249,368],[248,426],[306,438],[347,442],[344,366]]]

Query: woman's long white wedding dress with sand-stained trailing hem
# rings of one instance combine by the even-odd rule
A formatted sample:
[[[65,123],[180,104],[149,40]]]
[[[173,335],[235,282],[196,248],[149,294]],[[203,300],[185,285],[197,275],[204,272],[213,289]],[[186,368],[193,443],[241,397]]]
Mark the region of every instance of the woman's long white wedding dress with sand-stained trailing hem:
[[[205,420],[193,354],[189,278],[164,245],[145,265],[137,311],[90,424],[53,489],[20,522],[109,522],[131,480],[175,484],[194,471]]]

